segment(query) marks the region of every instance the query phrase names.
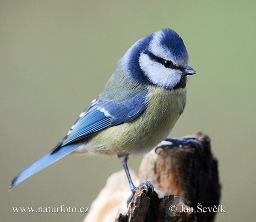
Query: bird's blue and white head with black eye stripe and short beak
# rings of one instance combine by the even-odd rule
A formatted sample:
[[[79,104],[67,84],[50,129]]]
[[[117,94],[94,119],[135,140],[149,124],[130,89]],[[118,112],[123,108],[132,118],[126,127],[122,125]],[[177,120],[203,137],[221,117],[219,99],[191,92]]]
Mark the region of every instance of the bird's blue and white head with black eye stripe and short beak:
[[[183,40],[169,28],[134,43],[121,62],[134,80],[166,89],[185,88],[187,75],[196,73]]]

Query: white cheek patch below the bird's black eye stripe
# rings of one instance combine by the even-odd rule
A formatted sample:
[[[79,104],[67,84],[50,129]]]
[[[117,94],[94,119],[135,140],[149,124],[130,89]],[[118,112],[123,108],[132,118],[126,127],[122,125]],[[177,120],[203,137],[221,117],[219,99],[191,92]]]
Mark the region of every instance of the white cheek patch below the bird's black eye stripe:
[[[165,68],[162,64],[151,60],[147,54],[140,55],[140,67],[152,83],[160,87],[174,88],[180,82],[181,71]]]

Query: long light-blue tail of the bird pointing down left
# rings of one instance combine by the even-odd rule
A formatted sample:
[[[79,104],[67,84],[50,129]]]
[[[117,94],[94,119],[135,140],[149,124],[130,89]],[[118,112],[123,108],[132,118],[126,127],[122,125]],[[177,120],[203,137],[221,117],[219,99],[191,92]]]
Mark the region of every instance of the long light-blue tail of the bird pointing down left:
[[[73,150],[78,148],[81,144],[80,143],[74,143],[69,144],[66,146],[61,147],[56,152],[49,152],[49,154],[46,154],[44,157],[41,157],[34,163],[32,163],[28,168],[21,171],[20,174],[18,174],[11,182],[10,190],[22,182],[24,179],[27,179],[29,176],[32,176],[36,172],[40,171],[41,169],[47,167],[48,165],[52,164],[56,160],[60,159],[61,157],[64,157],[65,155],[71,153]]]

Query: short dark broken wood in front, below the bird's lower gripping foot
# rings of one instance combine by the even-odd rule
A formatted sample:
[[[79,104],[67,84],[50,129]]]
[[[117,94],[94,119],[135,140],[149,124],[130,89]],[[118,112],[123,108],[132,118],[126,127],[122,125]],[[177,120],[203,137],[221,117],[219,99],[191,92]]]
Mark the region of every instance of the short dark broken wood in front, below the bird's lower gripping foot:
[[[127,214],[118,213],[114,222],[196,222],[195,212],[182,211],[181,205],[189,208],[186,199],[157,192],[146,194],[144,188],[139,188],[128,206]],[[171,206],[177,206],[177,211],[171,212]]]

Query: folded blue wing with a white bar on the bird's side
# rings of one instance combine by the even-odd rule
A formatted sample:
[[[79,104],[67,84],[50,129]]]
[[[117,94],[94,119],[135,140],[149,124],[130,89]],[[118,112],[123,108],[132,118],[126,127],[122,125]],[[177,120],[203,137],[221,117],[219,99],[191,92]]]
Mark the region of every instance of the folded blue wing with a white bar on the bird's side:
[[[121,103],[97,99],[76,121],[62,140],[61,146],[88,137],[107,127],[135,120],[147,108],[146,95],[147,92],[138,94]]]

